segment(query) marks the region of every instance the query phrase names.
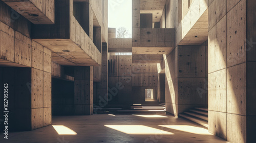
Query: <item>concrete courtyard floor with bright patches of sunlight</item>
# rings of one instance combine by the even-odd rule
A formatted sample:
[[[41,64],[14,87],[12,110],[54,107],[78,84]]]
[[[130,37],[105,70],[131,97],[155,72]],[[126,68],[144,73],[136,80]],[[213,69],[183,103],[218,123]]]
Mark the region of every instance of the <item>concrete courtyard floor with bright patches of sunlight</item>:
[[[0,142],[226,142],[197,124],[164,113],[153,116],[53,116],[52,122],[53,126],[68,127],[71,130],[61,128],[60,131],[73,135],[59,135],[53,126],[47,126],[10,133],[9,139],[1,135]]]

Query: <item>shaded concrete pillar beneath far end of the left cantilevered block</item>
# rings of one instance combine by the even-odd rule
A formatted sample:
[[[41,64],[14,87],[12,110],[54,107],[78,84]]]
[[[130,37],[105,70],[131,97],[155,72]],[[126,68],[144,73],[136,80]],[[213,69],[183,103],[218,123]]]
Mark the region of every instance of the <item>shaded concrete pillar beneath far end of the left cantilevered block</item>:
[[[93,67],[82,66],[74,69],[74,114],[93,114]]]

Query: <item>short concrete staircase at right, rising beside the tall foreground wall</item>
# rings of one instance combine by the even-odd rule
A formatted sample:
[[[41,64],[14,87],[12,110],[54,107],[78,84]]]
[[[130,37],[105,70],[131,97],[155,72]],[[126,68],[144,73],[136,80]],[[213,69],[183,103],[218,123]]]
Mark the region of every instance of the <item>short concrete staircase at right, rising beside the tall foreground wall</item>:
[[[208,108],[190,109],[179,116],[208,128]]]

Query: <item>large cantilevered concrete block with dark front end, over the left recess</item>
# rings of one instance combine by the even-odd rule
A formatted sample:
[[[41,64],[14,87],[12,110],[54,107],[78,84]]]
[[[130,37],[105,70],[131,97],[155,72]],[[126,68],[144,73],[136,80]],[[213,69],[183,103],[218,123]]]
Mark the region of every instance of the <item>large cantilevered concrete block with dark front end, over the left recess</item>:
[[[93,11],[89,4],[83,3],[88,10],[86,25],[76,15],[73,0],[56,0],[54,25],[32,25],[31,38],[54,52],[52,60],[61,65],[100,66],[101,54],[93,43]],[[79,14],[82,12],[80,11]],[[85,15],[87,13],[84,13]],[[89,28],[89,32],[84,30]],[[86,33],[87,32],[87,33]],[[101,44],[101,43],[100,43]]]

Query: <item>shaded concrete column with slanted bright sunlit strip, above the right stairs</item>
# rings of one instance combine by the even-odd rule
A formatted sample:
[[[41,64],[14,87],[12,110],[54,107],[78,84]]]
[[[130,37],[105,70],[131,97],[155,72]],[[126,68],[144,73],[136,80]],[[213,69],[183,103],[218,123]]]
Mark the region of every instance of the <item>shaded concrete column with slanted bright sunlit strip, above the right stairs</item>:
[[[165,59],[166,111],[207,107],[207,44],[178,45]]]

